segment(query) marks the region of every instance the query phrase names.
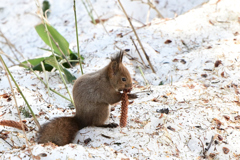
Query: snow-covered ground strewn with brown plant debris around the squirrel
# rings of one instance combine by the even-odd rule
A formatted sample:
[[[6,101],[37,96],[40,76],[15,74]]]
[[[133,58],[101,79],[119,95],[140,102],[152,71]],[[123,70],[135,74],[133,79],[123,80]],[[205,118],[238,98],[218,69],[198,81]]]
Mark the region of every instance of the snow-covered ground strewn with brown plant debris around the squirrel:
[[[51,3],[52,13],[48,20],[76,51],[72,1],[61,2]],[[184,13],[204,1],[187,3],[182,0],[181,4],[177,4],[172,0],[166,5],[167,2],[159,1],[157,7],[165,17],[173,17],[174,12]],[[148,6],[141,8],[142,4],[133,3],[140,2],[123,1],[128,13],[138,20],[133,21],[135,27],[141,27],[147,19],[146,14],[141,14],[148,11]],[[134,7],[130,7],[130,4]],[[5,8],[9,5],[11,10]],[[94,26],[90,22],[82,3],[78,2],[84,72],[96,71],[108,64],[109,57],[117,51],[114,45],[131,49],[129,54],[137,58],[129,38],[135,36],[117,2],[101,0],[93,1],[93,5],[102,18],[108,19],[104,24],[109,35],[100,24]],[[39,159],[202,159],[203,150],[208,148],[213,137],[213,143],[206,152],[208,159],[239,159],[239,6],[238,0],[211,0],[172,19],[154,18],[156,13],[152,11],[150,23],[137,29],[137,32],[156,74],[137,61],[124,58],[124,64],[134,79],[133,92],[139,95],[129,105],[127,127],[88,127],[79,131],[74,144],[43,146],[34,143],[37,127],[33,119],[24,118],[30,129],[27,137],[31,142],[32,154]],[[0,29],[24,57],[46,54],[37,49],[46,46],[33,28],[40,23],[35,16],[37,9],[34,1],[7,1],[1,3],[0,8],[4,8],[0,10]],[[169,40],[171,43],[167,43]],[[3,42],[4,39],[0,37],[0,48],[14,56]],[[21,56],[18,58],[21,59]],[[221,63],[217,65],[217,61]],[[13,65],[10,61],[7,63]],[[150,85],[146,85],[138,66],[143,69]],[[68,101],[54,93],[48,95],[47,89],[33,73],[17,66],[10,70],[41,124],[53,117],[74,113],[73,109],[69,109]],[[70,71],[77,77],[81,75],[78,66]],[[39,75],[44,78],[43,73]],[[48,77],[50,86],[67,96],[58,73],[48,73]],[[72,89],[71,84],[68,86]],[[17,90],[15,92],[18,93]],[[0,120],[18,120],[5,72],[1,71],[0,95],[4,93],[10,94],[12,100],[0,96]],[[25,103],[19,94],[17,99],[18,105],[24,107]],[[113,108],[110,121],[119,122],[120,104]],[[169,114],[157,112],[163,108],[169,108]],[[0,126],[0,134],[1,159],[29,159],[28,150],[22,147],[25,139],[21,131]],[[3,135],[7,136],[5,140]],[[87,138],[91,138],[91,141],[85,144]]]

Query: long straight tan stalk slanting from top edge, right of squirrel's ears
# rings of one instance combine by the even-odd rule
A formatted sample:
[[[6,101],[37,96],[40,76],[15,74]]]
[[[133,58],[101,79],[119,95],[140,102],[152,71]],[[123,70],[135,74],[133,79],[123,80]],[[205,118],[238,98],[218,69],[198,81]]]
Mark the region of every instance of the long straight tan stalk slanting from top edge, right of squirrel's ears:
[[[152,66],[152,63],[151,63],[150,60],[149,60],[149,56],[147,55],[147,53],[146,53],[146,51],[145,51],[145,49],[144,49],[144,47],[143,47],[143,45],[142,45],[142,43],[141,43],[141,41],[140,41],[138,35],[137,35],[137,32],[136,32],[136,30],[134,29],[133,24],[132,24],[132,22],[131,22],[129,16],[127,15],[125,9],[123,8],[122,3],[120,2],[120,0],[118,0],[118,3],[119,3],[119,5],[120,5],[120,7],[122,8],[123,13],[124,13],[125,16],[127,17],[127,20],[128,20],[128,22],[129,22],[129,24],[130,24],[130,26],[131,26],[131,28],[132,28],[132,30],[133,30],[133,32],[134,32],[136,38],[137,38],[137,40],[138,40],[138,43],[140,44],[140,46],[141,46],[141,48],[142,48],[143,53],[145,54],[145,57],[146,57],[146,59],[147,59],[149,65],[150,65],[150,67],[151,67],[153,73],[156,73],[155,70],[154,70],[154,68],[153,68],[153,66]]]

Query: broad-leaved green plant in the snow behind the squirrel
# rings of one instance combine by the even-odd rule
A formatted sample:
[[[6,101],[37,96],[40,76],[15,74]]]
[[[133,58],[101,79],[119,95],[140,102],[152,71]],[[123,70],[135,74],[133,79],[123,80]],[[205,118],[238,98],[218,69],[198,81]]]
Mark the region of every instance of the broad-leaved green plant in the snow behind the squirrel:
[[[38,33],[38,35],[41,37],[41,39],[51,47],[50,43],[52,44],[53,51],[54,51],[54,56],[57,59],[57,62],[54,59],[54,56],[51,55],[49,57],[40,57],[40,58],[35,58],[35,59],[30,59],[28,61],[22,62],[20,65],[25,67],[28,65],[28,62],[31,65],[31,68],[33,70],[38,70],[38,71],[43,71],[43,67],[41,65],[41,62],[43,63],[43,66],[46,71],[52,71],[54,68],[58,69],[58,64],[59,68],[62,73],[64,73],[64,78],[68,83],[72,83],[73,80],[76,79],[75,76],[73,76],[67,68],[70,68],[79,62],[78,60],[83,61],[83,57],[78,57],[78,54],[71,51],[69,49],[69,43],[67,40],[50,24],[46,24],[47,30],[50,35],[50,41],[48,39],[47,32],[45,30],[44,24],[39,24],[35,26],[35,29]],[[51,51],[49,49],[44,49],[46,51]],[[57,64],[58,63],[58,64]],[[26,68],[26,67],[25,67]]]

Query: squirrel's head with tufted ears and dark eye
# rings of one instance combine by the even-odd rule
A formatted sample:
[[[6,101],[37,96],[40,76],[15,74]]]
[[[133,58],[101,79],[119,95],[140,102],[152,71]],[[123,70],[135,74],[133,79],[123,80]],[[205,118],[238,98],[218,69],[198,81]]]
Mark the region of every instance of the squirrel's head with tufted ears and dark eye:
[[[124,51],[121,50],[114,57],[108,67],[109,81],[117,91],[132,88],[132,78],[126,67],[122,64]]]

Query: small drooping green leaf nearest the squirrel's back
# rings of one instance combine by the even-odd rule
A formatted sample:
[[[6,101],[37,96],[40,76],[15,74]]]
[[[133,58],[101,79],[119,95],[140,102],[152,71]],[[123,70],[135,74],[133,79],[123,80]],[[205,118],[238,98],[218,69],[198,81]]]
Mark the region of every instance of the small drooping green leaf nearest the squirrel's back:
[[[58,69],[58,62],[55,61],[54,57],[47,57],[45,59],[45,62],[47,64],[50,64],[51,66],[55,67],[56,69]],[[67,69],[63,68],[60,64],[59,64],[59,69],[60,69],[60,72],[63,72],[64,73],[64,78],[67,80],[67,83],[72,83],[76,77],[73,76]]]

